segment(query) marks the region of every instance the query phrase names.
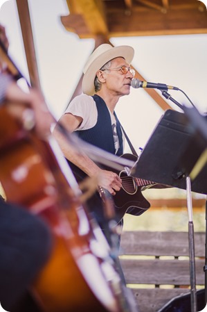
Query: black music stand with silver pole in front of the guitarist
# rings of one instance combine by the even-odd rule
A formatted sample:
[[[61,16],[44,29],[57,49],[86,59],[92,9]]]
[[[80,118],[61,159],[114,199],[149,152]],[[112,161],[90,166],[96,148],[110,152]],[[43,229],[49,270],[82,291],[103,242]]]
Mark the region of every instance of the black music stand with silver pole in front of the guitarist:
[[[197,312],[191,191],[207,194],[207,183],[205,183],[207,161],[204,161],[200,170],[195,170],[195,165],[207,145],[206,138],[201,136],[199,129],[190,122],[188,115],[167,110],[143,149],[134,174],[141,179],[186,190],[189,220],[191,312]],[[191,181],[190,174],[192,172],[194,176]]]

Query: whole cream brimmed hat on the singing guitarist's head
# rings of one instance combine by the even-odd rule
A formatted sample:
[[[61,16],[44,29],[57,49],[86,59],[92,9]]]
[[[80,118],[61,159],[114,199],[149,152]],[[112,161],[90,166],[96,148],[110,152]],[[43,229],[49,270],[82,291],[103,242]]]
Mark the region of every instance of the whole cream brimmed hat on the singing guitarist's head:
[[[127,45],[112,47],[111,44],[100,44],[100,46],[93,51],[89,60],[84,66],[84,77],[82,80],[82,92],[86,95],[94,95],[94,79],[96,72],[113,58],[125,58],[128,64],[131,64],[134,57],[134,49]]]

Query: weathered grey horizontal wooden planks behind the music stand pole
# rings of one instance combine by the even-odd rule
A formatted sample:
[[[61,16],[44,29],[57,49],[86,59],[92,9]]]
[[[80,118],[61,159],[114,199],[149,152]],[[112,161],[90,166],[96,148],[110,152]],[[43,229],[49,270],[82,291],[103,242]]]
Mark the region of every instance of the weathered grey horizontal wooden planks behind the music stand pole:
[[[204,232],[195,233],[199,291],[205,284],[205,240]],[[127,286],[132,288],[139,312],[157,312],[172,298],[190,293],[187,232],[124,231],[120,250]]]

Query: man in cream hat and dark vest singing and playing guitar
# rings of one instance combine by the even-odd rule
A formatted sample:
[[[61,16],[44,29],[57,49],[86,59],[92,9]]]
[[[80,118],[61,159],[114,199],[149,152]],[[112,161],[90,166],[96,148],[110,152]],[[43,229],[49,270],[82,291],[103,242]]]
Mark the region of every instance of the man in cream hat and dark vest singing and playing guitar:
[[[134,57],[134,49],[129,46],[112,47],[110,44],[101,44],[89,57],[84,67],[82,81],[83,94],[75,97],[69,107],[60,118],[60,122],[69,132],[75,132],[79,138],[89,142],[91,145],[100,147],[105,151],[117,156],[123,155],[125,135],[115,113],[116,104],[120,97],[129,95],[131,81],[135,71],[130,67]],[[102,189],[107,190],[116,199],[120,193],[129,195],[130,192],[123,188],[125,176],[114,172],[111,168],[103,168],[94,163],[86,154],[75,154],[67,145],[64,137],[55,129],[53,135],[59,142],[63,154],[80,181],[83,176],[98,177],[98,184]],[[107,169],[107,170],[106,170]],[[131,180],[132,184],[136,181]],[[135,194],[137,188],[132,190]],[[121,195],[121,194],[120,194]],[[150,207],[139,190],[138,204],[143,205],[143,211]],[[130,197],[131,198],[131,197]],[[122,197],[122,199],[124,198]],[[118,199],[118,202],[119,199]],[[115,206],[123,207],[115,201]],[[136,201],[131,199],[130,206]],[[117,203],[117,204],[116,204]],[[88,206],[105,231],[103,220],[104,211],[100,208],[100,196],[96,194],[88,201]],[[117,214],[117,221],[123,225],[123,215],[128,207],[125,206],[121,214]],[[132,211],[133,210],[133,211]],[[141,214],[143,211],[136,211],[132,208],[133,214]],[[106,234],[106,233],[105,233]]]

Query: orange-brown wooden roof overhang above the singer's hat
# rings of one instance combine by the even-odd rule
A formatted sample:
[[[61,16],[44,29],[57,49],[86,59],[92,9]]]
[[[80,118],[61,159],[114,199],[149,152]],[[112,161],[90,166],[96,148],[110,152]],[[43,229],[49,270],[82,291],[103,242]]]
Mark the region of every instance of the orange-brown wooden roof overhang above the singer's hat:
[[[207,10],[198,0],[66,0],[67,31],[80,38],[207,33]]]

